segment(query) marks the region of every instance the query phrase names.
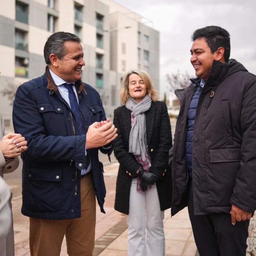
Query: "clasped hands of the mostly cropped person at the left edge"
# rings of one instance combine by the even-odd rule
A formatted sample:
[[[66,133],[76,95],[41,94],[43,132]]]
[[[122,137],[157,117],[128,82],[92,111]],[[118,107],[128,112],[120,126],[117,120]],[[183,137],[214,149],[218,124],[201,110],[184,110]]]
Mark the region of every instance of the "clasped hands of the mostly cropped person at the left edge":
[[[26,151],[28,149],[27,144],[21,134],[8,133],[0,141],[0,150],[4,158],[13,158]]]

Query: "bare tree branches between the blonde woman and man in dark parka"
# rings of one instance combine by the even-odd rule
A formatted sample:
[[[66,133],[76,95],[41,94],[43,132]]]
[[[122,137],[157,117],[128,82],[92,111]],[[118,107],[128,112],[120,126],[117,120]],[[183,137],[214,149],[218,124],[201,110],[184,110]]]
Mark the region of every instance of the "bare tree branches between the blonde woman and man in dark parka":
[[[186,88],[191,84],[190,75],[187,71],[184,74],[181,74],[180,70],[178,70],[177,73],[172,73],[171,75],[167,74],[166,77],[167,82],[170,85],[170,91]]]

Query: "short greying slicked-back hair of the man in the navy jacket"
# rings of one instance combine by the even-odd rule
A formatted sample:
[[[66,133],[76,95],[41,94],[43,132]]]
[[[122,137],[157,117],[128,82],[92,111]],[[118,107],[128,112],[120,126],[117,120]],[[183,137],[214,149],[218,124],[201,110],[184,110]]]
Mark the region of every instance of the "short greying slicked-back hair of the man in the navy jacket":
[[[66,54],[64,43],[66,41],[81,42],[77,35],[68,32],[56,32],[49,36],[44,45],[44,59],[46,64],[51,64],[50,55],[53,53],[59,59],[62,59]]]

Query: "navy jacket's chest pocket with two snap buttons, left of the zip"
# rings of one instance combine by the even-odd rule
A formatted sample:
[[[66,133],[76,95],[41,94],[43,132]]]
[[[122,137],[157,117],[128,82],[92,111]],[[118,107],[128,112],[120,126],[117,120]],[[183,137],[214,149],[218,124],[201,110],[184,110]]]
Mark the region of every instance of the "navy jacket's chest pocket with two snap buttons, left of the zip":
[[[48,102],[38,103],[38,110],[41,113],[44,121],[44,127],[47,135],[66,136],[67,135],[67,120],[63,113],[62,104],[51,104]]]

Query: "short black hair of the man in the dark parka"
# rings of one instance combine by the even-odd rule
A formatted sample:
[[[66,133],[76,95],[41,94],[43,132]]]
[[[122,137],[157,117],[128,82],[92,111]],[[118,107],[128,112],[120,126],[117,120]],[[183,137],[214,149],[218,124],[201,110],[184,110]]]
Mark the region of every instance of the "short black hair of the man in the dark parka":
[[[230,57],[230,34],[227,30],[217,26],[207,26],[195,30],[192,35],[192,41],[205,38],[211,53],[215,53],[219,47],[224,48],[224,60],[227,62]]]

